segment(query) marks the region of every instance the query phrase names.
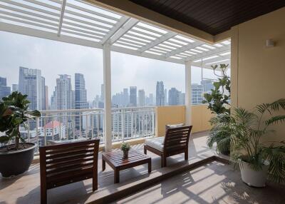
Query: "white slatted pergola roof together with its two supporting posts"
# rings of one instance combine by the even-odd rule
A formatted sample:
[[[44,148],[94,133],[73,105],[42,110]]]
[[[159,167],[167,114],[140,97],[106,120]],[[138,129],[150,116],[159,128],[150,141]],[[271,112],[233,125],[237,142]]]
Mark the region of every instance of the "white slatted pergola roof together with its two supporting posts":
[[[82,0],[1,0],[0,31],[103,49],[106,151],[112,146],[110,51],[184,64],[187,118],[191,66],[230,64],[230,41],[207,44]]]

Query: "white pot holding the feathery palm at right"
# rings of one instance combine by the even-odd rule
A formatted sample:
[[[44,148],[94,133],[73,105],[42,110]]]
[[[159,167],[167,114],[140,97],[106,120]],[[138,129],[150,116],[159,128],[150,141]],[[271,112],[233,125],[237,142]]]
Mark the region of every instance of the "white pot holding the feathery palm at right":
[[[264,187],[266,185],[268,169],[269,163],[264,163],[262,170],[255,171],[250,168],[249,163],[242,161],[242,165],[240,165],[242,181],[249,186]]]

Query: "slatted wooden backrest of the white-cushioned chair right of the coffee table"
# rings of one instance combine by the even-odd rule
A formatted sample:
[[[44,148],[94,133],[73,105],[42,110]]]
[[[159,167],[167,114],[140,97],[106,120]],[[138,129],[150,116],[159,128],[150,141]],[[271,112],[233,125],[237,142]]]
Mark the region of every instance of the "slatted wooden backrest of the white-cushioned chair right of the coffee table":
[[[168,128],[165,134],[164,151],[180,151],[188,148],[192,126]]]

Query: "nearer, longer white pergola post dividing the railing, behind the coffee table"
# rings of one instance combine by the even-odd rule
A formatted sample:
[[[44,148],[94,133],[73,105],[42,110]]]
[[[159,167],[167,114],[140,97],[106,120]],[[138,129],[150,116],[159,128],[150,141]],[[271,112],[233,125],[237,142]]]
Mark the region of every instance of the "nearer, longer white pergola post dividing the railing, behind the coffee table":
[[[111,103],[111,51],[110,44],[103,45],[104,78],[104,142],[105,151],[112,150],[112,103]]]

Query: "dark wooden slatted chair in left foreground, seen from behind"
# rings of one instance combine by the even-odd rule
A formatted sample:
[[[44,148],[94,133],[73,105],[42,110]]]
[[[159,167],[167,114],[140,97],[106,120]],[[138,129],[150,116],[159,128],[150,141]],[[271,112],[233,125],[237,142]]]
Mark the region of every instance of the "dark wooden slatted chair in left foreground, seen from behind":
[[[99,140],[43,146],[40,151],[41,203],[47,202],[47,190],[93,178],[98,189]]]

